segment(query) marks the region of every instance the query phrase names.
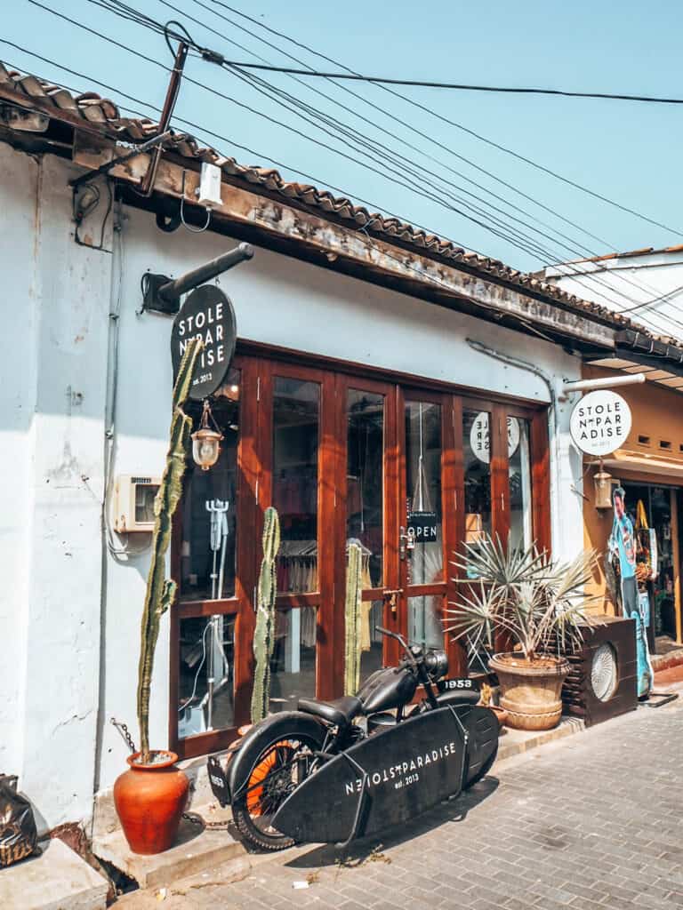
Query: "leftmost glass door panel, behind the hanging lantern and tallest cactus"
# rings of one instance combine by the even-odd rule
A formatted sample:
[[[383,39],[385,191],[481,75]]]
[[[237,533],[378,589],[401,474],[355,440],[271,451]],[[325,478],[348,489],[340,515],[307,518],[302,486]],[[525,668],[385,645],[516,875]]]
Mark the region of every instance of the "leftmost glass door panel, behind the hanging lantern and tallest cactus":
[[[251,432],[244,408],[250,380],[250,370],[236,359],[211,403],[223,434],[218,463],[204,471],[188,461],[176,512],[172,565],[178,595],[170,608],[168,739],[182,758],[225,747],[244,723],[238,631],[250,585],[242,558],[250,501],[243,470]],[[188,406],[193,407],[200,404]]]

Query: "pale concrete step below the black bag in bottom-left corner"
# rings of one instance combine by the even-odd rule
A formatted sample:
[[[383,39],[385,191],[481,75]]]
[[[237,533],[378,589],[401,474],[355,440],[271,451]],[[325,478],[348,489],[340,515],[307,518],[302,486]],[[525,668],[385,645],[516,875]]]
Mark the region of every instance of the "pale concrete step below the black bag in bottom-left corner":
[[[43,853],[0,870],[3,910],[105,910],[108,883],[57,838]]]

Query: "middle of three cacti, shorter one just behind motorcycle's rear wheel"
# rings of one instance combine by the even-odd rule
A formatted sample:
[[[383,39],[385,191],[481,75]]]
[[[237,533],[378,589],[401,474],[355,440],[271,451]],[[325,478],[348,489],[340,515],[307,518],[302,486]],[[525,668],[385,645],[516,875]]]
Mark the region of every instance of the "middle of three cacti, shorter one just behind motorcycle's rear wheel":
[[[260,564],[257,593],[256,630],[254,631],[254,688],[251,693],[251,723],[258,723],[268,713],[270,703],[270,660],[275,648],[275,597],[277,576],[275,560],[280,550],[278,512],[266,509],[263,516],[263,559]]]

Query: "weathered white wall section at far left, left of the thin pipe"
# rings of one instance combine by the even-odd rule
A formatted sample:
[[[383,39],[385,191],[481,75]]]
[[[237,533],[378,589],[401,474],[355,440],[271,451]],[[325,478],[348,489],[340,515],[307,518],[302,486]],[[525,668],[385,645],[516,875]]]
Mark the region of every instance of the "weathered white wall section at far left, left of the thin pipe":
[[[92,804],[111,256],[71,238],[75,172],[5,146],[0,155],[0,757],[52,827]]]

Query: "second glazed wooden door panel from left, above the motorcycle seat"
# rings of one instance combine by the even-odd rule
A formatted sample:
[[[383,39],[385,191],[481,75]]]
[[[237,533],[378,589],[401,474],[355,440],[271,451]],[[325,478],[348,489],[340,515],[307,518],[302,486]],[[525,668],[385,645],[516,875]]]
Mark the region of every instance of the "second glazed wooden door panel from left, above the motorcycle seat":
[[[263,512],[280,517],[275,648],[270,662],[270,712],[296,708],[299,698],[324,692],[327,681],[323,602],[329,596],[333,541],[325,533],[330,509],[330,378],[320,370],[261,361],[260,564]],[[254,591],[254,601],[258,592]]]

